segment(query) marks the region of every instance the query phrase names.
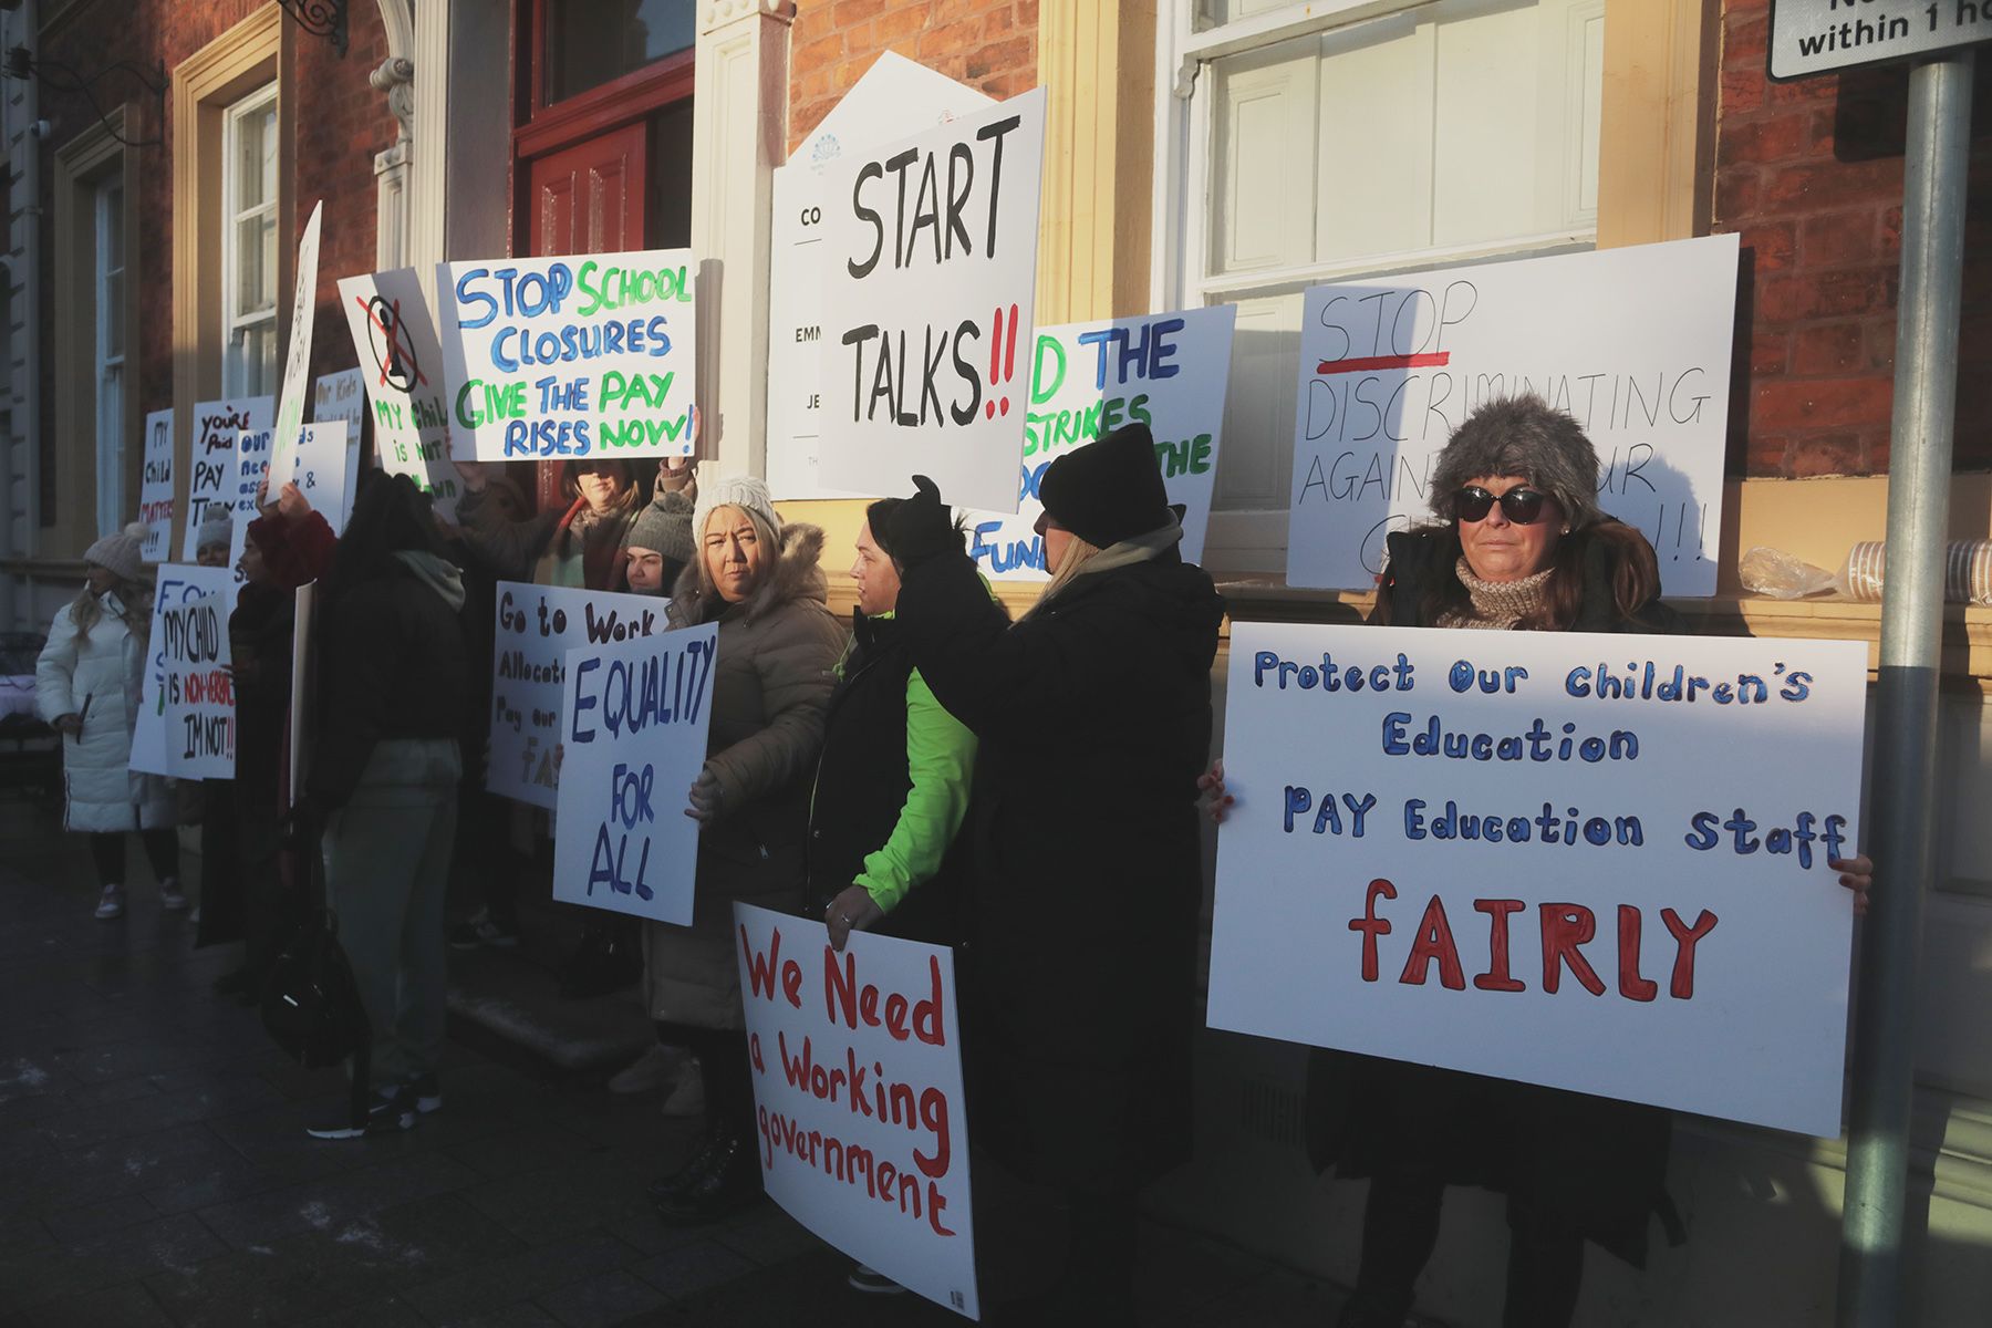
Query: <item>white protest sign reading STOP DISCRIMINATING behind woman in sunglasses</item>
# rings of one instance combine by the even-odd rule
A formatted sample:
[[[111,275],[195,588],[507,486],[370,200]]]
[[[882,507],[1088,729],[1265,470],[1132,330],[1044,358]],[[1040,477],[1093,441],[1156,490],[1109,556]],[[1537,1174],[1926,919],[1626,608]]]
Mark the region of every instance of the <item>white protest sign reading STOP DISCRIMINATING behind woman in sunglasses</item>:
[[[1715,593],[1735,285],[1737,237],[1709,235],[1311,289],[1287,581],[1369,589],[1452,430],[1534,392],[1584,426],[1667,593]]]

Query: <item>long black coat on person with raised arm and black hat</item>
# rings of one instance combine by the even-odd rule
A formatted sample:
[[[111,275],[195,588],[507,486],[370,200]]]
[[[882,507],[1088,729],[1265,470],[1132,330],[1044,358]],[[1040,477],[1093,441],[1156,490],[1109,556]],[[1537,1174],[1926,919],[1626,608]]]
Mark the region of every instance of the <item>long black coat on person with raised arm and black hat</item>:
[[[1175,550],[1080,575],[1014,627],[958,553],[906,569],[900,631],[980,739],[962,858],[976,1139],[1062,1189],[1131,1189],[1189,1153],[1223,599]]]

